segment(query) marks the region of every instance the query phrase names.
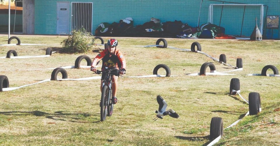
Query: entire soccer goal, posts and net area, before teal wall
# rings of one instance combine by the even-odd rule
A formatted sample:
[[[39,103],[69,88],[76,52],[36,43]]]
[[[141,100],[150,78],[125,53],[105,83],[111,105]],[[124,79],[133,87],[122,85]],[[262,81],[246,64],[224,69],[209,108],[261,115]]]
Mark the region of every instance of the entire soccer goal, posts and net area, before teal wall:
[[[264,6],[262,4],[210,4],[208,22],[225,28],[225,34],[250,36],[255,28],[262,34]]]

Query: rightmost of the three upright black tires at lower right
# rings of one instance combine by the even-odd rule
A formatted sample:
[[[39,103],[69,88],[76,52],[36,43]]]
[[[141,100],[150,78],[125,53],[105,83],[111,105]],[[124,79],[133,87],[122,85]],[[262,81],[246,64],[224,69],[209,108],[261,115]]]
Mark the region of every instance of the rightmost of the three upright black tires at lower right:
[[[249,114],[256,115],[260,111],[260,94],[258,92],[249,93]]]

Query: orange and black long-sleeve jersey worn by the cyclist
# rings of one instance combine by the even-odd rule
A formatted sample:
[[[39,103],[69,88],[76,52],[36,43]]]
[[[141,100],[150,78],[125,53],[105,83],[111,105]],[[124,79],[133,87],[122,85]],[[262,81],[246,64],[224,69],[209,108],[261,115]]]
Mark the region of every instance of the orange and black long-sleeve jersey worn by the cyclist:
[[[92,61],[92,67],[97,65],[97,62],[102,60],[102,68],[109,67],[109,68],[117,68],[117,69],[125,69],[126,70],[126,61],[125,57],[122,53],[116,48],[113,54],[110,54],[108,49],[100,52]]]

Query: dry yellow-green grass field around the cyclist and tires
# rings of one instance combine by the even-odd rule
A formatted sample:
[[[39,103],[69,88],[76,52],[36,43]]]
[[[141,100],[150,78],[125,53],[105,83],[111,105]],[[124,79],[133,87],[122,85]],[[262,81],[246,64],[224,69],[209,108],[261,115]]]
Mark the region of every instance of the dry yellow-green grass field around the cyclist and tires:
[[[48,45],[0,46],[0,57],[12,49],[18,56],[45,55],[48,47],[60,50],[60,42],[66,38],[18,37],[21,43]],[[154,45],[158,38],[117,39],[117,48],[127,60],[127,72],[118,80],[118,103],[112,117],[100,122],[99,79],[47,81],[0,92],[0,145],[207,145],[212,117],[223,118],[225,128],[248,112],[246,102],[238,95],[229,95],[232,78],[239,78],[245,99],[250,92],[260,93],[262,112],[225,130],[216,145],[280,145],[280,78],[246,76],[260,74],[265,65],[280,68],[280,41],[167,38],[168,46],[183,49],[190,49],[197,41],[203,52],[215,58],[225,54],[233,66],[237,58],[243,60],[243,70],[230,72],[234,75],[187,76],[199,72],[204,62],[212,62],[217,72],[232,68],[200,53],[134,47]],[[6,36],[0,36],[0,44],[7,44]],[[0,75],[8,77],[10,87],[36,83],[50,79],[53,70],[48,68],[74,65],[80,55],[94,58],[100,48],[104,46],[84,54],[53,53],[46,58],[0,58]],[[85,60],[82,64],[86,65]],[[175,77],[128,78],[151,75],[158,64],[169,66]],[[66,70],[70,79],[98,76],[89,68]],[[165,71],[160,69],[159,73]],[[273,74],[272,70],[267,74]],[[157,95],[166,100],[167,109],[180,115],[178,119],[165,116],[153,121]]]

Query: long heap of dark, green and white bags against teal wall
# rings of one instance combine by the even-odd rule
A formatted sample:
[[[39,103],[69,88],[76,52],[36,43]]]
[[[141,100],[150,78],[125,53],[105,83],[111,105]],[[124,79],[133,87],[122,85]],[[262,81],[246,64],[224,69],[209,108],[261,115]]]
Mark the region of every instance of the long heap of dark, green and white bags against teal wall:
[[[143,25],[133,26],[133,19],[131,17],[121,19],[118,23],[100,23],[95,30],[95,36],[146,36],[194,39],[224,39],[228,37],[225,35],[225,28],[211,23],[202,24],[200,27],[191,27],[187,23],[177,20],[173,22],[160,22],[159,19],[151,18],[151,21],[145,22]],[[230,39],[234,38],[231,37]]]

